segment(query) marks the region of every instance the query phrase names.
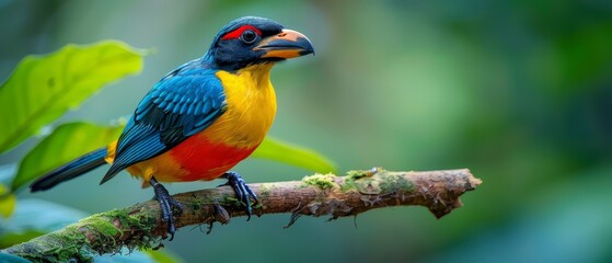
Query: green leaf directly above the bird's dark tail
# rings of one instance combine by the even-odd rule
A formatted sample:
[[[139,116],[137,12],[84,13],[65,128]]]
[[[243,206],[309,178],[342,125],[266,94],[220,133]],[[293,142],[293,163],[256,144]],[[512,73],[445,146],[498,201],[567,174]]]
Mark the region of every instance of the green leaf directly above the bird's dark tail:
[[[68,123],[57,127],[22,159],[12,190],[39,178],[92,150],[119,138],[123,125],[99,126],[90,123]]]

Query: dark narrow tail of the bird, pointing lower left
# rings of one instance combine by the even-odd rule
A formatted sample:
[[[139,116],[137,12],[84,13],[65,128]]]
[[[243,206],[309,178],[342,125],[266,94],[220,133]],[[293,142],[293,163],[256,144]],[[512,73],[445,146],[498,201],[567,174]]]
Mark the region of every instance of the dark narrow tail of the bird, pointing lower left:
[[[77,178],[102,164],[105,164],[106,148],[101,148],[72,160],[60,168],[43,175],[30,185],[32,192],[45,191],[57,184]]]

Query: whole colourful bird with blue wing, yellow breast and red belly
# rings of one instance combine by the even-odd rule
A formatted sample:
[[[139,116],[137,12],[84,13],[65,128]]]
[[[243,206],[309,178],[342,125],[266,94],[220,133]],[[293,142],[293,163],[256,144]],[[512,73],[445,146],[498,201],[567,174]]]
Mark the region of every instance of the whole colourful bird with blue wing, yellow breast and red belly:
[[[243,16],[223,26],[208,52],[170,71],[142,98],[118,139],[37,179],[46,191],[103,164],[100,184],[123,170],[152,186],[170,240],[182,204],[164,182],[227,179],[245,206],[247,220],[257,196],[230,171],[263,141],[277,105],[270,69],[277,62],[314,55],[311,41],[276,21]]]

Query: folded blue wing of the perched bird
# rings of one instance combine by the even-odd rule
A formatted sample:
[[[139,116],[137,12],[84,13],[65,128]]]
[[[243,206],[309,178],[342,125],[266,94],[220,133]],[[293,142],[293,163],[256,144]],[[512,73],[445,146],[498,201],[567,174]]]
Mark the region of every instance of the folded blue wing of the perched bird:
[[[165,76],[140,101],[101,184],[127,167],[157,157],[201,132],[226,110],[215,71],[193,60]]]

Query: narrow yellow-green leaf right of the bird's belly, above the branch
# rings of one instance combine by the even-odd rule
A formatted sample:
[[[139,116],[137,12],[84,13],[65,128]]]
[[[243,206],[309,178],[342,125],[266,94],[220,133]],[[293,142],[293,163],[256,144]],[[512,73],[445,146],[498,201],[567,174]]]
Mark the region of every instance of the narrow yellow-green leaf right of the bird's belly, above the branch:
[[[323,155],[269,137],[264,139],[252,157],[270,159],[320,173],[336,172],[334,163]]]

